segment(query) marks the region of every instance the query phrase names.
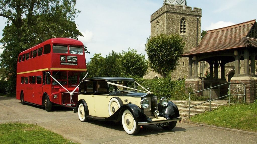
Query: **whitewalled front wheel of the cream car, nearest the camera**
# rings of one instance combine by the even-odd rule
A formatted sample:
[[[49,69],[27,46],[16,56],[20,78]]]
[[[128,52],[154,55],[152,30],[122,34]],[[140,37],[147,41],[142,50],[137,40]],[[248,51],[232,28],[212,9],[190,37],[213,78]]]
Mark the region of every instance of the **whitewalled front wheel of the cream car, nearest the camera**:
[[[122,114],[122,126],[126,133],[129,135],[135,135],[140,130],[137,122],[128,109],[126,109]]]

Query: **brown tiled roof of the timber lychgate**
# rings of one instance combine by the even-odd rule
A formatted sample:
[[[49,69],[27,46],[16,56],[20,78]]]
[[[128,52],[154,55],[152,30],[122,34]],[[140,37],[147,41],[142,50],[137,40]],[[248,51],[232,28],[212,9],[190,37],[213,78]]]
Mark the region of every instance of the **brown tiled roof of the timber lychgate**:
[[[247,46],[257,47],[257,39],[246,37],[255,23],[256,21],[254,19],[241,24],[209,30],[198,46],[192,48],[182,56],[187,57],[200,53],[210,53]]]

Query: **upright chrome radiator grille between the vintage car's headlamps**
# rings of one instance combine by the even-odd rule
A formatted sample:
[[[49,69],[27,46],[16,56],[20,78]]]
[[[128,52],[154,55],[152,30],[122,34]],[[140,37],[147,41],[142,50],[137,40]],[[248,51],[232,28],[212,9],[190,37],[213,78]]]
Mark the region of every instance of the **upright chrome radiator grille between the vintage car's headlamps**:
[[[149,107],[144,109],[144,113],[149,118],[155,118],[154,111],[157,110],[157,97],[146,97],[149,101]]]

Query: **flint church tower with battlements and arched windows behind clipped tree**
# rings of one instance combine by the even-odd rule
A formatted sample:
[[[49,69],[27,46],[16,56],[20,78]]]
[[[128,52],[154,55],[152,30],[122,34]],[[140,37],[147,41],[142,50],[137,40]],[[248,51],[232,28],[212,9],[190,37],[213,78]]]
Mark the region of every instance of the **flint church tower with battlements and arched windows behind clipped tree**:
[[[151,36],[160,33],[178,34],[186,42],[184,52],[198,45],[201,39],[201,8],[187,6],[186,0],[164,0],[163,6],[151,15]],[[145,78],[160,77],[160,74],[149,72]],[[188,58],[182,57],[179,66],[171,73],[171,78],[188,77]]]

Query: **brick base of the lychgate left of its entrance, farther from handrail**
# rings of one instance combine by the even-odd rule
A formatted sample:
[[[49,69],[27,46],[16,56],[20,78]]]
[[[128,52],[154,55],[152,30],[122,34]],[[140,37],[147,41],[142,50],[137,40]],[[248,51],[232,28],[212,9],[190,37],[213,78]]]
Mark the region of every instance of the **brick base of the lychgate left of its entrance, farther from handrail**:
[[[185,92],[189,93],[188,90],[194,92],[202,90],[202,80],[200,78],[187,78],[185,80]],[[197,93],[197,95],[202,95],[202,92]]]

